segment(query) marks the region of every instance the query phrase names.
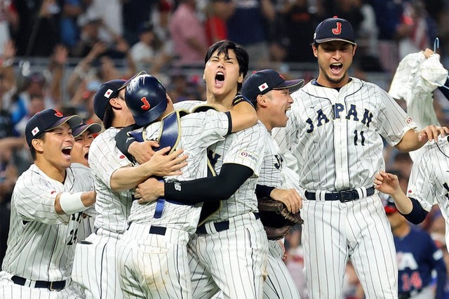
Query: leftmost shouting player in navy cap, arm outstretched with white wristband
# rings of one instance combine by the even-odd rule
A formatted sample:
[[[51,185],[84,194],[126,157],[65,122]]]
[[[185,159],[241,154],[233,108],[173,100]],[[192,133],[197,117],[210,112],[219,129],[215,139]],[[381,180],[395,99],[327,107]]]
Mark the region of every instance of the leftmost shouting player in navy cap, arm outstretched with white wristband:
[[[27,122],[34,164],[18,178],[11,199],[1,298],[81,296],[70,276],[81,214],[95,202],[90,171],[70,165],[72,128],[81,121],[46,109]]]

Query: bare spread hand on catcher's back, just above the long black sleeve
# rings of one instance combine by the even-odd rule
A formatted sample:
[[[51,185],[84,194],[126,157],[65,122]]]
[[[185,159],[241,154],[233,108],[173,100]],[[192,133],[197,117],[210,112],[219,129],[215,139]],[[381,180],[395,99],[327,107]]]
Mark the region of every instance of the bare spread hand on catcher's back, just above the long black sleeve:
[[[187,166],[187,154],[183,154],[184,150],[175,150],[171,154],[170,147],[164,147],[163,149],[154,153],[152,159],[145,164],[149,167],[152,175],[167,176],[167,175],[180,175],[182,171],[180,169]]]

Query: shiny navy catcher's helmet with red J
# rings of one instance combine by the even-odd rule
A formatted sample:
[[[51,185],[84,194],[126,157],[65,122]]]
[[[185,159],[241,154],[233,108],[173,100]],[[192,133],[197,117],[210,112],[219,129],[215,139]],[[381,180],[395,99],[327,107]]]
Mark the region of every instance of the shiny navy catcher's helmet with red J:
[[[166,88],[155,77],[140,75],[126,86],[125,101],[135,124],[147,126],[166,110]]]

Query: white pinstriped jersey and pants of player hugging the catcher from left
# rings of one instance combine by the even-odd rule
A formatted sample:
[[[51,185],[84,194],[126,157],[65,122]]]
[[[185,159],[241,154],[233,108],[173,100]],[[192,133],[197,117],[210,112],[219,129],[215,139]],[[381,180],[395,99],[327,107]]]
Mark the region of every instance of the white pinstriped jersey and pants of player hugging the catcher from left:
[[[108,128],[92,142],[89,166],[97,199],[94,222],[96,232],[76,246],[72,279],[86,294],[86,298],[122,298],[116,272],[116,244],[126,230],[130,213],[131,192],[114,192],[110,179],[117,169],[130,165],[130,161],[117,149],[117,128]]]

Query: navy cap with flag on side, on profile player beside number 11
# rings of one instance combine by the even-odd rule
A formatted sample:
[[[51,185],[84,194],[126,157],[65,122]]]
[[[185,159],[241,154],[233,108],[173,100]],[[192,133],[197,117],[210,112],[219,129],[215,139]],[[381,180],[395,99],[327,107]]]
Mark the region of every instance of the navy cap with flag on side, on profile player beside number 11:
[[[274,69],[262,69],[261,71],[253,72],[243,82],[240,92],[255,104],[257,95],[264,95],[274,89],[284,88],[288,88],[288,91],[293,93],[293,91],[300,89],[302,85],[304,85],[304,79],[286,80]]]

